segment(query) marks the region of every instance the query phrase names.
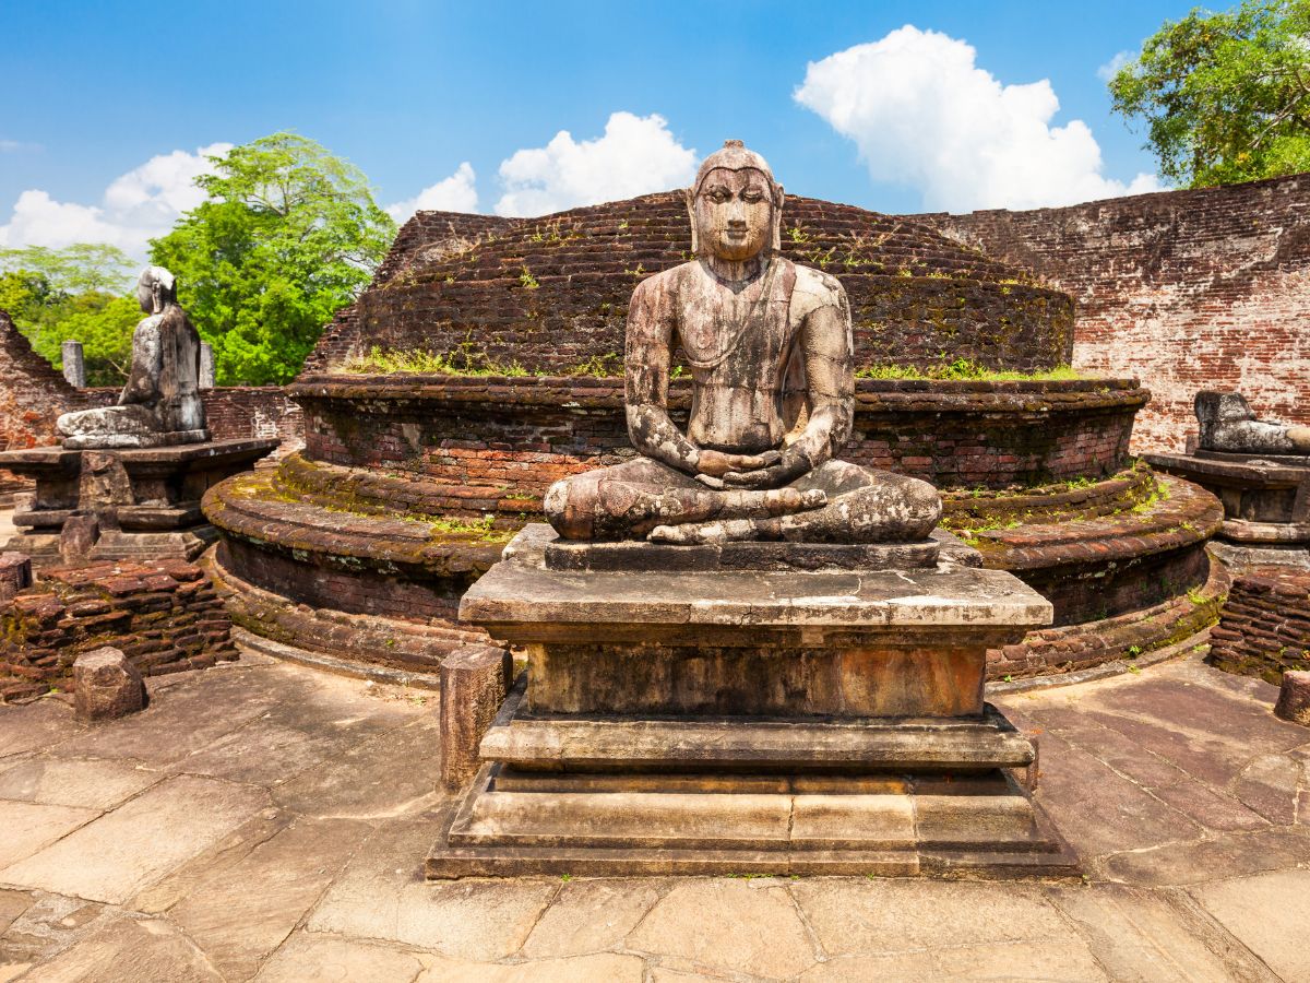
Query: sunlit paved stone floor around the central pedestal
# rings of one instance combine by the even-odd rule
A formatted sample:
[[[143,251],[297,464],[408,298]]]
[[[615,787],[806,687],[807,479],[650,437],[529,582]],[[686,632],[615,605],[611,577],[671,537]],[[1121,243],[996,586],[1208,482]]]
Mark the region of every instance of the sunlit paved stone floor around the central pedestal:
[[[1200,662],[1005,709],[1085,883],[465,881],[435,704],[245,657],[0,708],[0,982],[1310,979],[1310,731]]]

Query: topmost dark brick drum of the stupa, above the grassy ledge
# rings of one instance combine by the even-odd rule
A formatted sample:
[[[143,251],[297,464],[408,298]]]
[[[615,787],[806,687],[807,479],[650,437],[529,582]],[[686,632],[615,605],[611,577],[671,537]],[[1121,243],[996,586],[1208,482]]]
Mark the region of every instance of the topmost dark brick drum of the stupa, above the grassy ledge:
[[[852,206],[790,198],[783,220],[783,253],[846,287],[859,364],[964,358],[1035,371],[1070,359],[1072,301],[1015,269],[909,219]],[[339,368],[375,345],[464,349],[544,372],[600,359],[617,372],[633,288],[689,249],[679,193],[541,219],[419,212],[305,372]]]

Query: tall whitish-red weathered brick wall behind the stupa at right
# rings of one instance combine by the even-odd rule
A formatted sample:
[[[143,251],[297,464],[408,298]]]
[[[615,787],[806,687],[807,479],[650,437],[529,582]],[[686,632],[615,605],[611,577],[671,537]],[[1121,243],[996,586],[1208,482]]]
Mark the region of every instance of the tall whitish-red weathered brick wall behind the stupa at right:
[[[1074,296],[1074,364],[1151,391],[1140,448],[1183,450],[1203,388],[1310,423],[1310,174],[913,218]]]

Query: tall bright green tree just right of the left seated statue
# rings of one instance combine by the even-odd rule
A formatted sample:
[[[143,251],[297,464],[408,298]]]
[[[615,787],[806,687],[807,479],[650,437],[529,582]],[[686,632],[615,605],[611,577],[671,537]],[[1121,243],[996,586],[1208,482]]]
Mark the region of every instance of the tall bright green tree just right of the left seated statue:
[[[220,384],[286,383],[368,283],[396,224],[363,173],[279,132],[214,157],[208,199],[151,242],[214,346]]]

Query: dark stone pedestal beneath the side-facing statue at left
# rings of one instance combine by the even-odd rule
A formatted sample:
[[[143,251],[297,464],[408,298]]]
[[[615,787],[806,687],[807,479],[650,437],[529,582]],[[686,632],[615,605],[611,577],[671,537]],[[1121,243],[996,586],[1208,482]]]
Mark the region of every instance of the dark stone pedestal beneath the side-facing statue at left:
[[[26,553],[38,565],[62,562],[66,524],[75,516],[90,516],[97,536],[86,544],[88,560],[194,560],[217,539],[200,512],[200,495],[249,469],[276,446],[275,439],[249,439],[131,450],[5,451],[0,468],[37,482],[34,493],[14,495],[13,523],[21,531],[5,549]]]

